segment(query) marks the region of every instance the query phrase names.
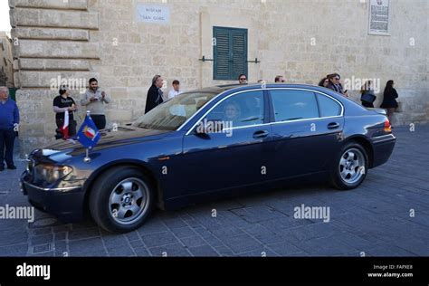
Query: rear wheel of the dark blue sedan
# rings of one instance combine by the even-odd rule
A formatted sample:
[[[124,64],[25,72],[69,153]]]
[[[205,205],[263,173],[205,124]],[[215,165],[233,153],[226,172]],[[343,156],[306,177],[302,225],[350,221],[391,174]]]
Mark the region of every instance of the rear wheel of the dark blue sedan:
[[[365,180],[368,169],[367,151],[356,142],[341,148],[331,172],[331,183],[340,190],[358,187]]]

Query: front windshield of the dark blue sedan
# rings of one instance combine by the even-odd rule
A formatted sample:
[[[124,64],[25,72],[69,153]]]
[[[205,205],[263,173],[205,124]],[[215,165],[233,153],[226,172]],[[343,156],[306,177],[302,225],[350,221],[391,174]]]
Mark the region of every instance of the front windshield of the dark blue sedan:
[[[179,94],[139,117],[133,126],[142,129],[176,130],[216,95],[217,93],[213,92]]]

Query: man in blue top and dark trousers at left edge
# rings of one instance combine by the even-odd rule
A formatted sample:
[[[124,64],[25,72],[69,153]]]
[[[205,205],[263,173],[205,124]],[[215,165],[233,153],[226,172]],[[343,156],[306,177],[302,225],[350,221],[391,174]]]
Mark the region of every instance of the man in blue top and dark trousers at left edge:
[[[0,172],[14,167],[14,137],[19,127],[19,110],[14,100],[9,99],[9,90],[0,87]]]

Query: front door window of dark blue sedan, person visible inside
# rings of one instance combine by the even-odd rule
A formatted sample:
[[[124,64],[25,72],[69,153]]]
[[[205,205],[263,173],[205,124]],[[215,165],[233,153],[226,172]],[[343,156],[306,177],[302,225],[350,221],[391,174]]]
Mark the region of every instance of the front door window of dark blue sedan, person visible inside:
[[[247,91],[222,101],[205,119],[224,121],[229,126],[243,127],[263,123],[263,92]]]

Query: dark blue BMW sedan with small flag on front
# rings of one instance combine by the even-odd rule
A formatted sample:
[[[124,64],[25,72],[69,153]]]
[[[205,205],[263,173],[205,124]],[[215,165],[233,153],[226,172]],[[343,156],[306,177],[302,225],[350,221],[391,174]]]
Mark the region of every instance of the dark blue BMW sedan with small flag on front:
[[[384,110],[310,85],[229,85],[189,91],[129,126],[101,130],[89,157],[79,143],[33,150],[21,178],[29,202],[64,222],[84,214],[129,232],[154,207],[328,179],[359,186],[396,138]]]

